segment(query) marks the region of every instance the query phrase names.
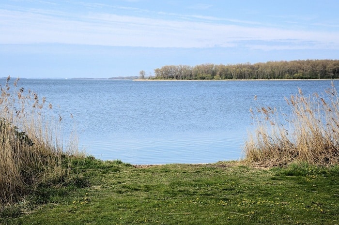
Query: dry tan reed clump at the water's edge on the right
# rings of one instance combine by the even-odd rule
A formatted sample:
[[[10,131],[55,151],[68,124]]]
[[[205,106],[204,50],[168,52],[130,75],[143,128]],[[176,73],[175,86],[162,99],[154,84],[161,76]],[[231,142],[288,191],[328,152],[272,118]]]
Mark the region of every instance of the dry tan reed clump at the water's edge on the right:
[[[245,161],[261,166],[295,161],[313,165],[339,163],[339,98],[332,82],[322,94],[305,96],[302,90],[286,103],[289,116],[271,107],[253,112],[257,124],[244,146]]]

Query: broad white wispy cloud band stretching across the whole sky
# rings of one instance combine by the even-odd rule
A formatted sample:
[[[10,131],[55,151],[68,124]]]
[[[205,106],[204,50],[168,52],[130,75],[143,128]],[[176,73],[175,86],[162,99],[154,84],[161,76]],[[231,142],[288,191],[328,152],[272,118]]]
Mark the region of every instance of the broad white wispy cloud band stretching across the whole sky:
[[[171,19],[108,13],[68,15],[58,11],[0,10],[0,44],[339,49],[339,32],[277,29],[260,23],[250,27],[248,21],[186,16],[200,20],[180,20],[177,16]],[[262,43],[252,43],[253,40]],[[284,40],[285,44],[275,40]]]

